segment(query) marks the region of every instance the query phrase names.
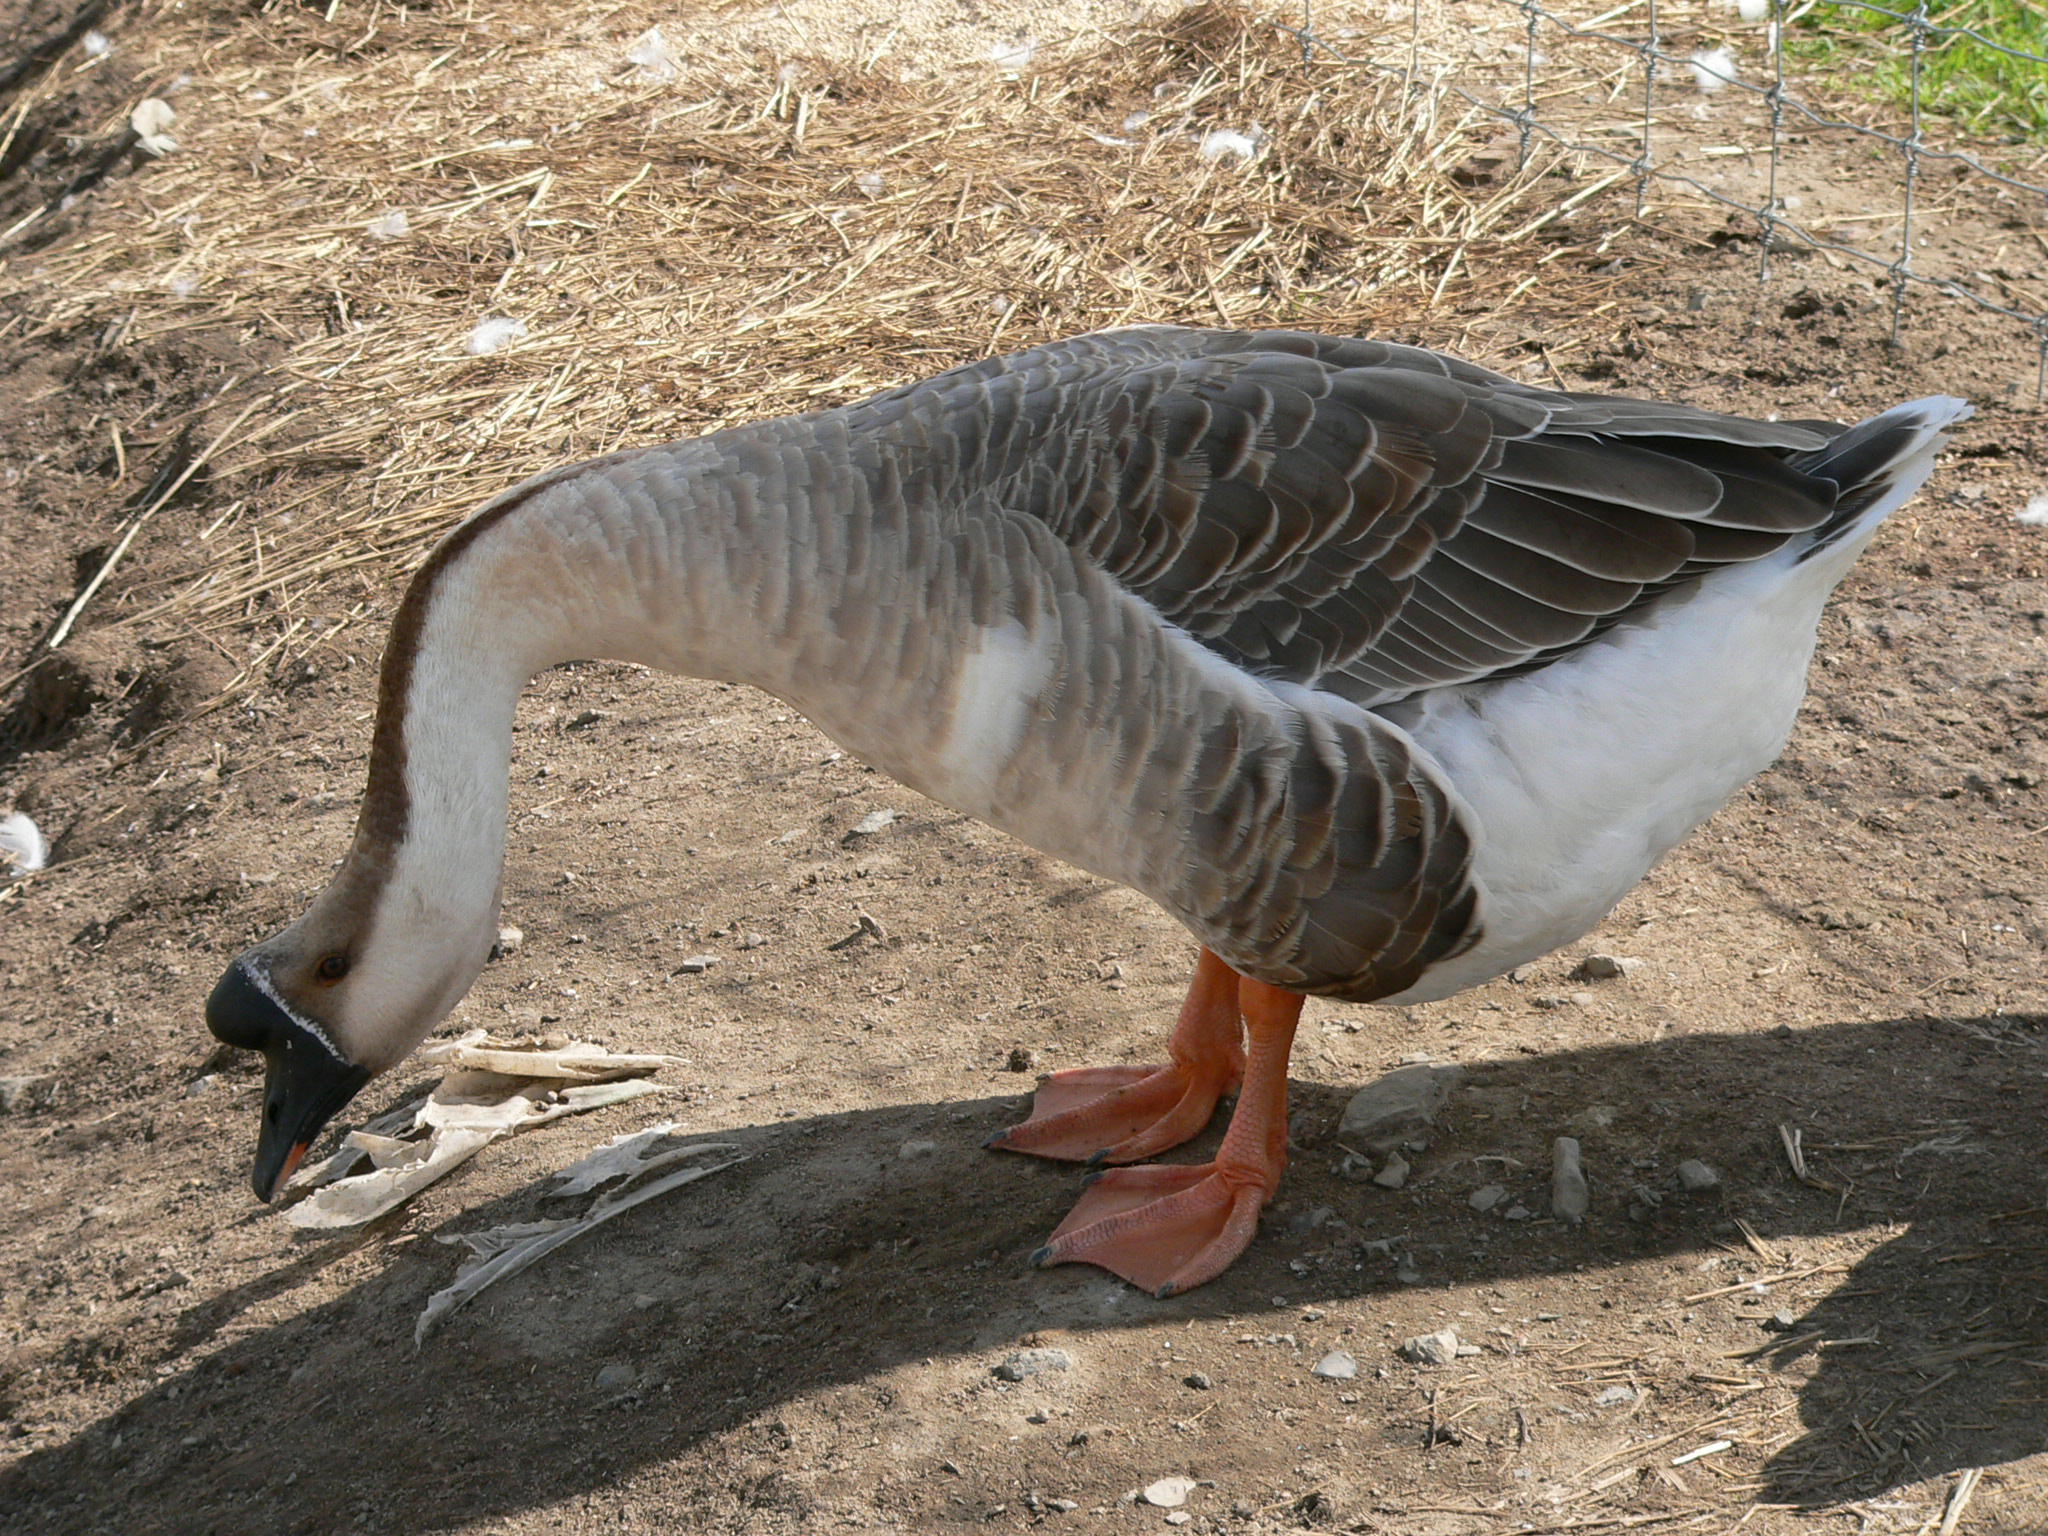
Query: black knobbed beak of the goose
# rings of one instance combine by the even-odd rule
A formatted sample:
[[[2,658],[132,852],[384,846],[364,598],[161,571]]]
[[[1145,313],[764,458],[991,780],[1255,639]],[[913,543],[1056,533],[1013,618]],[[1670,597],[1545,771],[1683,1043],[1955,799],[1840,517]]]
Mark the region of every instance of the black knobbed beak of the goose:
[[[297,1171],[319,1128],[371,1079],[365,1067],[344,1061],[328,1038],[297,1018],[260,985],[248,961],[236,961],[207,997],[213,1038],[244,1051],[262,1051],[262,1133],[250,1184],[270,1200]]]

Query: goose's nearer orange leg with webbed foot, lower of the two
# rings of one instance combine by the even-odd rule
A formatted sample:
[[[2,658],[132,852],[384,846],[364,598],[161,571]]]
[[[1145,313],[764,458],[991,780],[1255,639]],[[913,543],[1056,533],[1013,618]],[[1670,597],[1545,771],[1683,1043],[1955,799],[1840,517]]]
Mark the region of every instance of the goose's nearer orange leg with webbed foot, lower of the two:
[[[1296,993],[1241,979],[1251,1053],[1217,1161],[1096,1174],[1032,1260],[1100,1264],[1155,1296],[1192,1290],[1231,1268],[1251,1245],[1286,1167],[1286,1059],[1300,1004]]]

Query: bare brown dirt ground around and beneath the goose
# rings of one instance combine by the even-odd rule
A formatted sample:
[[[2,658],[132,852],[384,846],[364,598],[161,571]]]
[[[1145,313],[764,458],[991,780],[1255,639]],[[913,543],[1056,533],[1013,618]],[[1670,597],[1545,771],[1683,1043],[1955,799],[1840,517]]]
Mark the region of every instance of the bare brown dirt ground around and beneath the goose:
[[[0,37],[63,14],[6,12]],[[770,20],[807,14],[831,8]],[[963,49],[1051,25],[932,14],[981,29]],[[82,78],[72,131],[119,121],[133,84]],[[76,174],[90,143],[53,121],[39,160],[0,152],[0,188]],[[1870,199],[1835,168],[1815,154],[1790,184],[1847,217]],[[324,594],[330,621],[358,604],[350,627],[182,725],[250,668],[254,618],[223,641],[88,608],[76,666],[0,696],[0,803],[53,842],[47,872],[0,885],[0,1526],[1925,1536],[1962,1489],[1944,1532],[2048,1530],[2048,528],[2013,518],[2048,492],[2034,350],[1931,301],[1888,348],[1868,274],[1788,252],[1759,289],[1718,213],[1626,213],[1593,203],[1552,246],[1620,260],[1620,303],[1411,334],[1749,414],[1931,391],[1978,414],[1829,608],[1784,760],[1595,934],[1442,1004],[1311,1004],[1280,1200],[1225,1278],[1165,1303],[1028,1268],[1077,1174],[981,1141],[1034,1071],[1157,1057],[1188,936],[774,698],[612,664],[543,676],[520,711],[524,944],[446,1028],[674,1053],[676,1092],[487,1147],[354,1233],[256,1208],[260,1075],[213,1051],[201,1004],[346,844],[397,590]],[[1942,238],[2040,223],[1960,209]],[[106,489],[139,479],[109,412],[213,422],[252,358],[207,330],[4,346],[12,670],[133,512]],[[223,494],[199,477],[123,584],[186,557]],[[854,831],[881,809],[901,817]],[[1642,965],[1573,979],[1589,952]],[[678,969],[698,954],[719,963]],[[1468,1071],[1438,1135],[1405,1188],[1348,1182],[1343,1104],[1417,1059]],[[426,1081],[401,1067],[336,1133]],[[659,1118],[750,1161],[414,1348],[461,1253],[432,1239],[551,1214],[553,1169]],[[1581,1227],[1542,1217],[1559,1135],[1585,1147]],[[1681,1194],[1681,1159],[1720,1186]],[[1511,1198],[1479,1212],[1483,1184]],[[1395,1354],[1446,1325],[1479,1354]],[[999,1380],[1022,1348],[1071,1364]],[[1329,1350],[1358,1376],[1313,1376]],[[1165,1477],[1198,1481],[1184,1509],[1133,1499]]]

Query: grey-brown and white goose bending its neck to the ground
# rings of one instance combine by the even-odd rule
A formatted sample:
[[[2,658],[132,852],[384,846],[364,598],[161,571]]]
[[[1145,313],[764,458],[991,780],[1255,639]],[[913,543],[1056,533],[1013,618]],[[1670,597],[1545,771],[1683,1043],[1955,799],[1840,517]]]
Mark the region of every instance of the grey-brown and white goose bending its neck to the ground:
[[[1096,1167],[1034,1257],[1165,1296],[1251,1241],[1305,997],[1583,936],[1782,750],[1823,602],[1952,397],[1860,426],[1561,393],[1380,340],[1143,326],[514,485],[414,575],[354,840],[240,954],[254,1188],[469,989],[512,711],[608,657],[745,682],[1194,936],[1165,1061],[989,1145]],[[1212,1159],[1161,1163],[1235,1096]]]

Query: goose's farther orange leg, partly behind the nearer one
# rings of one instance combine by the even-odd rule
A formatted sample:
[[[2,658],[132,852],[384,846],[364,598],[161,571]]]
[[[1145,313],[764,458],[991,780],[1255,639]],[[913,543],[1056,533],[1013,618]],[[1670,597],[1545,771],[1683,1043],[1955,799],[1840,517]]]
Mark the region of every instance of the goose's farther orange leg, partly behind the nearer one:
[[[1032,1098],[1030,1118],[987,1145],[1071,1163],[1135,1163],[1200,1135],[1217,1100],[1245,1075],[1237,1006],[1237,973],[1202,950],[1163,1067],[1055,1071]]]

